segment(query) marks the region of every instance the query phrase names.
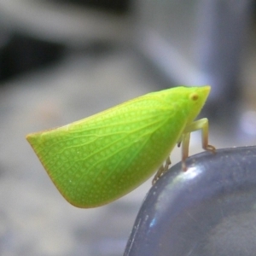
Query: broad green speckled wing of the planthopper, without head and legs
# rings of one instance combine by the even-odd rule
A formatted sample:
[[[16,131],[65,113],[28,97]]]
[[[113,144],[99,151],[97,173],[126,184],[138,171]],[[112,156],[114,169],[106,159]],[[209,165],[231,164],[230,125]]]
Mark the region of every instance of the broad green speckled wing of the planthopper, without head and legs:
[[[125,195],[153,174],[175,144],[166,143],[173,135],[166,131],[170,119],[170,106],[147,99],[29,141],[67,201],[91,206]]]

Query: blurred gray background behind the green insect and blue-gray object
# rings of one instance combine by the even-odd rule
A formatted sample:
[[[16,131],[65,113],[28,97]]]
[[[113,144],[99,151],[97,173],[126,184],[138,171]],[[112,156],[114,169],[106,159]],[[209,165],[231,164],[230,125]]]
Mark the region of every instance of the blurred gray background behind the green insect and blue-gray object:
[[[29,132],[149,91],[211,84],[210,143],[255,144],[255,16],[249,0],[2,0],[0,254],[122,255],[150,188],[105,207],[73,207],[26,143]],[[195,133],[190,154],[198,152]]]

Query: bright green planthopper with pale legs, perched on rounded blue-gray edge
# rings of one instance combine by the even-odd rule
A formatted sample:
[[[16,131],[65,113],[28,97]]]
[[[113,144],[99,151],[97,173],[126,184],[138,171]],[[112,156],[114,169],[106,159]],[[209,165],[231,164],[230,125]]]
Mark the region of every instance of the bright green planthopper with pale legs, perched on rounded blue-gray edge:
[[[208,120],[194,121],[210,90],[180,86],[151,92],[26,139],[67,201],[99,207],[136,189],[159,169],[155,182],[171,163],[176,143],[182,144],[185,169],[191,131],[201,130],[202,148],[214,152],[208,145]]]

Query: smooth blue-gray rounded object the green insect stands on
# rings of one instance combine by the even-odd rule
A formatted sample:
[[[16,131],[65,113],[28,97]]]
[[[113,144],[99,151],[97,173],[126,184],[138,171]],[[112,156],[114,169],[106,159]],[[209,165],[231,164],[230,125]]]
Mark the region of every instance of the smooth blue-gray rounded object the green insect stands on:
[[[125,256],[256,255],[256,147],[204,152],[166,172],[137,215]]]

